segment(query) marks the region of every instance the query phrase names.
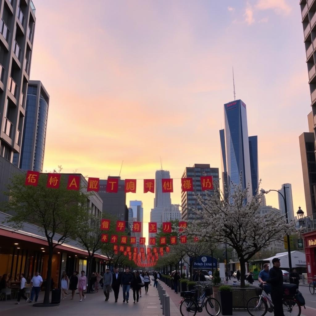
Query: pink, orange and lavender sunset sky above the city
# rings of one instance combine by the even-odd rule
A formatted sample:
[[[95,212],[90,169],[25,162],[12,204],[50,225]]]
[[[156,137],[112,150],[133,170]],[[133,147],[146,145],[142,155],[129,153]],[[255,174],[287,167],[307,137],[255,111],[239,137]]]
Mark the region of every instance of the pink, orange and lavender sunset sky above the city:
[[[43,170],[153,179],[162,167],[219,167],[223,104],[247,105],[265,190],[291,183],[305,210],[299,135],[311,111],[295,0],[33,0],[31,80],[50,95]],[[88,5],[87,5],[88,4]],[[137,193],[144,222],[154,194]],[[181,203],[174,180],[172,203]],[[277,193],[266,196],[278,207]]]

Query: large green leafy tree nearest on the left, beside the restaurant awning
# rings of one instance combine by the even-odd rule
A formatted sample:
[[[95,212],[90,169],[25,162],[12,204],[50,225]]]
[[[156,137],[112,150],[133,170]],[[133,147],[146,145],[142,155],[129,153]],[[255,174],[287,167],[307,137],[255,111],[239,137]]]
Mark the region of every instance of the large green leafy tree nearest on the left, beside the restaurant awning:
[[[88,198],[83,190],[67,190],[66,176],[61,177],[58,189],[46,188],[46,183],[46,174],[40,174],[37,186],[26,186],[25,174],[15,175],[8,185],[9,202],[4,205],[4,211],[13,214],[7,220],[15,229],[21,229],[28,222],[39,226],[46,236],[48,282],[44,304],[49,303],[53,250],[75,236],[78,223],[87,211]]]

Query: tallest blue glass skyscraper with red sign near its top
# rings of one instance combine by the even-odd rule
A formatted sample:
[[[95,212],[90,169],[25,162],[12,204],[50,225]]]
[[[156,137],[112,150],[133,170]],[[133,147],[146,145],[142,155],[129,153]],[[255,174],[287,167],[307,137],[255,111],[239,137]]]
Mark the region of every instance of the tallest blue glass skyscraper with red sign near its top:
[[[227,172],[224,185],[230,194],[229,184],[239,184],[241,174],[243,188],[249,187],[254,195],[258,188],[258,138],[248,137],[246,104],[242,100],[224,104],[224,117],[225,128],[220,131],[222,164],[226,161],[222,172]]]

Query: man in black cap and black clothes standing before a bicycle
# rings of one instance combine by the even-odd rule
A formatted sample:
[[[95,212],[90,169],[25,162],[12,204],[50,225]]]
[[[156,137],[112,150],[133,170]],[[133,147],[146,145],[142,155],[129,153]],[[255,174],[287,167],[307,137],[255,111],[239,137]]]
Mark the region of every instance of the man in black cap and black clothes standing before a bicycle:
[[[280,259],[272,259],[273,267],[269,270],[269,279],[266,281],[271,284],[271,299],[274,305],[274,316],[284,316],[283,299],[283,273],[280,269]]]

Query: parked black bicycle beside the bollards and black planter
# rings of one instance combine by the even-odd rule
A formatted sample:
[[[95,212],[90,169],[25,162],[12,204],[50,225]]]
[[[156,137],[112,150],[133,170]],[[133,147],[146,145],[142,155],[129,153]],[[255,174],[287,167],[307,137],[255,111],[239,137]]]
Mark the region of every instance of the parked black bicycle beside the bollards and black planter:
[[[197,312],[201,313],[205,306],[206,312],[211,316],[217,316],[221,312],[220,303],[213,297],[211,289],[208,286],[196,285],[195,288],[204,289],[203,294],[197,298],[197,290],[181,292],[183,299],[180,301],[180,313],[182,316],[195,316]],[[204,303],[206,299],[206,302]]]

